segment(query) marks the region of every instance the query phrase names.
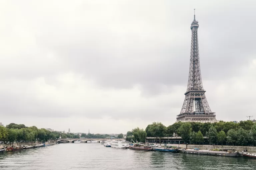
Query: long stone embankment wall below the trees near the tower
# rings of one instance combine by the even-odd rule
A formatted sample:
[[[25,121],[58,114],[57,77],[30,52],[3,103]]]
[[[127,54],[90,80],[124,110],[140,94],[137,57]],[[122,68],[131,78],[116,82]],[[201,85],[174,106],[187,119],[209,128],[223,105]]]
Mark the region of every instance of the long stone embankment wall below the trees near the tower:
[[[156,143],[155,143],[156,144]],[[157,143],[159,145],[159,143]],[[161,146],[164,146],[164,144],[161,143]],[[185,148],[185,144],[167,144],[167,146],[180,146],[181,148]],[[229,148],[229,149],[236,149],[236,151],[243,151],[248,150],[249,152],[256,152],[256,146],[221,146],[221,145],[187,145],[187,148],[194,149],[194,148],[200,148],[200,149],[221,149],[221,148]]]

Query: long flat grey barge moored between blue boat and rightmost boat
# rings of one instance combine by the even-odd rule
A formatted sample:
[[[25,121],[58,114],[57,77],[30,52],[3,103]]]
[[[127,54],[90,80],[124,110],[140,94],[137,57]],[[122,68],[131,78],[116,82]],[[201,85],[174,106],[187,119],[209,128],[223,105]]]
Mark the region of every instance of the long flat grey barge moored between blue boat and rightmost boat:
[[[204,154],[204,155],[213,155],[213,156],[239,156],[239,153],[236,152],[236,149],[219,149],[220,151],[213,151],[207,149],[183,149],[182,153],[190,153],[190,154]]]

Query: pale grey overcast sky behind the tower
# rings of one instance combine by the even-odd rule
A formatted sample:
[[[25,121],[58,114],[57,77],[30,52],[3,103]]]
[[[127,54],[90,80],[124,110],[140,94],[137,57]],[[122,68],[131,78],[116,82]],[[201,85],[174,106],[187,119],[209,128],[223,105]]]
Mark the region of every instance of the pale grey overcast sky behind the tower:
[[[173,124],[194,8],[216,119],[256,118],[253,0],[2,0],[0,122],[91,133]]]

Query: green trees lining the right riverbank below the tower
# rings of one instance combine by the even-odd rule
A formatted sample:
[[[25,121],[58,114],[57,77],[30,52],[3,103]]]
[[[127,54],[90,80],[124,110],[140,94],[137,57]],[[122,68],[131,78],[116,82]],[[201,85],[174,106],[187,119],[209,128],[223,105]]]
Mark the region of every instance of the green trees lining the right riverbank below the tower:
[[[126,140],[145,142],[146,137],[171,137],[180,136],[187,144],[200,144],[204,141],[203,136],[207,136],[211,144],[222,144],[231,142],[232,145],[256,145],[256,123],[252,121],[234,122],[176,122],[165,127],[161,122],[153,122],[145,130],[134,128],[127,132]]]

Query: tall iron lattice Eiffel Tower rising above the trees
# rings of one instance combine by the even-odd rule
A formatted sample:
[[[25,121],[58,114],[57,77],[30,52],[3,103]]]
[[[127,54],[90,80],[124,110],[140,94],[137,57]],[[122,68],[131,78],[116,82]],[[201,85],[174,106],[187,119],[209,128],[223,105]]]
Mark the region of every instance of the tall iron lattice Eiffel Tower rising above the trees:
[[[209,107],[205,97],[206,91],[202,83],[199,62],[198,27],[198,21],[196,21],[194,15],[194,21],[190,27],[192,36],[188,87],[181,112],[177,116],[177,122],[216,122],[215,113]]]

